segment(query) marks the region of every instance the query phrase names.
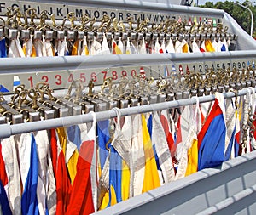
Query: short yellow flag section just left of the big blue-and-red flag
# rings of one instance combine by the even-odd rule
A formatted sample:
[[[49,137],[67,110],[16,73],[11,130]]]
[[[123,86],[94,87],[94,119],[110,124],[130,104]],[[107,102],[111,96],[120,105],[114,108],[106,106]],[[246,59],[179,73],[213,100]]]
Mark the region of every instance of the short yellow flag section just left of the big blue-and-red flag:
[[[192,145],[188,150],[188,166],[186,170],[186,176],[197,172],[198,165],[198,141],[197,139],[192,140]]]

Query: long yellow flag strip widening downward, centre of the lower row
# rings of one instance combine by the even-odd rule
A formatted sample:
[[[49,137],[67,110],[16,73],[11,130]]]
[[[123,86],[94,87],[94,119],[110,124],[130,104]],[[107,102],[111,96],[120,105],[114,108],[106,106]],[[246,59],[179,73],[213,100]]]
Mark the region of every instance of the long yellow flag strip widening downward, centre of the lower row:
[[[142,115],[143,124],[143,149],[145,153],[145,176],[143,181],[143,192],[153,190],[160,186],[160,178],[157,172],[154,150],[148,133],[145,116]]]

